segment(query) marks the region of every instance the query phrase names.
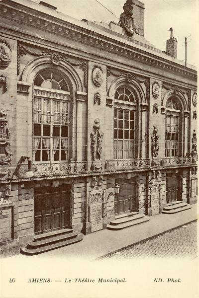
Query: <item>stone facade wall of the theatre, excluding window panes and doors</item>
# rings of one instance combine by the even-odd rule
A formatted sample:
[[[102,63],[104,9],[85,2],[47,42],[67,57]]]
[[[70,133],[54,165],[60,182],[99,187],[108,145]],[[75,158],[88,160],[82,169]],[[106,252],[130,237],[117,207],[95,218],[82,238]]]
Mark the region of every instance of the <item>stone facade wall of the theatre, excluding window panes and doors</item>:
[[[0,109],[6,112],[12,153],[11,160],[0,164],[0,199],[10,202],[12,213],[11,236],[8,240],[2,236],[1,253],[18,253],[20,247],[34,239],[35,219],[39,217],[35,198],[41,188],[57,188],[56,193],[64,192],[64,187],[68,187],[68,192],[70,189],[67,227],[84,234],[91,233],[93,228],[91,194],[103,193],[99,229],[106,228],[115,214],[161,213],[168,201],[168,177],[174,173],[179,181],[178,200],[196,203],[197,153],[192,154],[192,146],[193,132],[197,130],[197,120],[193,118],[197,73],[182,66],[177,54],[171,53],[173,50],[167,51],[170,55],[164,54],[146,42],[144,4],[133,1],[137,33],[129,37],[113,23],[108,26],[69,21],[59,13],[60,19],[55,19],[53,9],[44,10],[41,4],[35,4],[33,10],[31,1],[26,2],[26,6],[18,0],[0,2],[0,44],[5,50],[5,62],[0,64]],[[34,85],[37,75],[44,70],[61,75],[68,91]],[[127,88],[133,99],[117,100],[119,88]],[[42,105],[49,98],[68,102],[68,159],[35,160],[39,147],[35,149],[33,141],[38,139],[33,131],[34,98],[42,98]],[[171,98],[176,98],[180,106],[175,109],[180,119],[180,155],[169,157],[165,156],[165,122],[167,115],[176,115],[168,108]],[[128,158],[114,155],[116,150],[119,154],[114,147],[116,142],[121,144],[114,138],[117,110],[133,113],[135,117],[131,148],[134,151],[128,148],[126,153],[126,148],[122,149],[122,154],[129,154]],[[52,133],[50,138],[54,140]],[[6,155],[1,143],[0,160]],[[66,151],[62,146],[60,150]],[[46,145],[45,149],[53,157],[55,148],[48,151]],[[132,181],[135,197],[131,198],[131,207],[116,207],[120,203],[116,202],[114,190],[118,179],[128,185]],[[8,184],[10,194],[5,195]]]

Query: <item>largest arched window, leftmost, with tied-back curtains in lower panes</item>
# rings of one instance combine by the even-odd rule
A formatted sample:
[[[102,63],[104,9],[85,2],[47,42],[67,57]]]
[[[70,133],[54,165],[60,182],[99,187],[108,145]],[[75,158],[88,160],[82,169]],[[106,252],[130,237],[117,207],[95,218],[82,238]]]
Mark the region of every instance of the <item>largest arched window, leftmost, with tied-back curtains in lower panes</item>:
[[[69,160],[70,93],[65,79],[45,70],[34,80],[34,161]]]

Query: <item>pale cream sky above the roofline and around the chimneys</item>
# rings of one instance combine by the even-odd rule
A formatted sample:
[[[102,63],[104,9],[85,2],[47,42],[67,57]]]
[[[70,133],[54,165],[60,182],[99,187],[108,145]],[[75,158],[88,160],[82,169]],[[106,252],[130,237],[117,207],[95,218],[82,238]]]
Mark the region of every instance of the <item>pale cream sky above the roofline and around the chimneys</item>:
[[[40,0],[34,0],[39,2]],[[123,12],[125,0],[44,0],[67,15],[77,19],[109,23]],[[185,37],[188,37],[188,64],[197,66],[199,42],[199,0],[142,0],[145,4],[145,34],[150,43],[166,51],[169,29],[178,39],[178,59],[185,60]],[[104,5],[107,9],[105,9]]]

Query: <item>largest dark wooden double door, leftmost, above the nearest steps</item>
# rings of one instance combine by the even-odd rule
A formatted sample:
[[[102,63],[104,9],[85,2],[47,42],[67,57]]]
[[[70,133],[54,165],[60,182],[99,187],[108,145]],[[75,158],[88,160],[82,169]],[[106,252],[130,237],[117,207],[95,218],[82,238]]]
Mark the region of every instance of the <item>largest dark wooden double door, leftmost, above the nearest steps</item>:
[[[35,234],[70,227],[71,186],[35,188]]]

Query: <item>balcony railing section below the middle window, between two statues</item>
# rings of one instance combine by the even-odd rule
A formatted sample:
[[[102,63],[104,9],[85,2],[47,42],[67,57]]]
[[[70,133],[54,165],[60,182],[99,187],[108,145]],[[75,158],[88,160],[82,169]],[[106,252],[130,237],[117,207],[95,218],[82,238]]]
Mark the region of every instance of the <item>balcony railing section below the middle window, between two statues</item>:
[[[107,160],[106,170],[128,170],[138,168],[148,168],[150,166],[150,159],[121,159],[121,160]]]

